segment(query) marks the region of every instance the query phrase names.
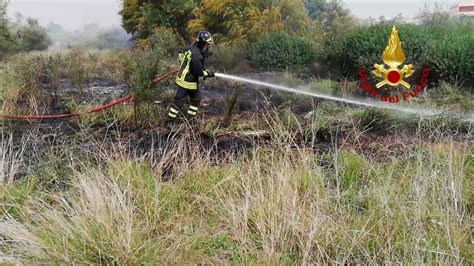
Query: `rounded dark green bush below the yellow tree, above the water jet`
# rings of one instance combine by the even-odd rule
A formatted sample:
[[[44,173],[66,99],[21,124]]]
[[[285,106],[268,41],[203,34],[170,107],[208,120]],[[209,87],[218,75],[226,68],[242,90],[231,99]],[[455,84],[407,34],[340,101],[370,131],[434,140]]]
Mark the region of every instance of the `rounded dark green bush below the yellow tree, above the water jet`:
[[[283,32],[269,33],[247,47],[251,65],[262,69],[285,69],[310,64],[315,57],[313,43]]]

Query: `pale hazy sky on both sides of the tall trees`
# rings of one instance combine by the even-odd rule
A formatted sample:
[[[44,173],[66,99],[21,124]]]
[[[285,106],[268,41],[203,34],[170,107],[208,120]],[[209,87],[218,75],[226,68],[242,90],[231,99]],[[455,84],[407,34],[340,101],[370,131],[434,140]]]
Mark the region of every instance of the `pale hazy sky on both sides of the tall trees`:
[[[425,6],[437,3],[448,10],[449,6],[472,0],[343,0],[352,14],[359,18],[393,18],[397,14],[412,18]],[[20,12],[24,17],[39,19],[42,25],[53,21],[67,30],[79,29],[85,24],[96,23],[102,27],[120,25],[121,0],[10,0],[9,16]]]

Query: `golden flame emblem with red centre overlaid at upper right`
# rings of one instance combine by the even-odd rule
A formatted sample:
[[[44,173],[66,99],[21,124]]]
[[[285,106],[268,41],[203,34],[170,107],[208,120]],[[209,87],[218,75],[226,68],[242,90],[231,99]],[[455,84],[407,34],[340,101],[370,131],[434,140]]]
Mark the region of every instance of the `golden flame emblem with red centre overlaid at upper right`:
[[[403,85],[409,89],[411,85],[403,79],[409,77],[415,72],[413,65],[403,65],[402,69],[398,69],[400,65],[405,62],[405,53],[398,37],[396,26],[393,26],[388,45],[383,51],[382,61],[388,66],[388,69],[384,65],[374,64],[375,69],[372,71],[377,77],[383,78],[384,80],[377,83],[376,87],[380,88],[384,85],[398,86]]]

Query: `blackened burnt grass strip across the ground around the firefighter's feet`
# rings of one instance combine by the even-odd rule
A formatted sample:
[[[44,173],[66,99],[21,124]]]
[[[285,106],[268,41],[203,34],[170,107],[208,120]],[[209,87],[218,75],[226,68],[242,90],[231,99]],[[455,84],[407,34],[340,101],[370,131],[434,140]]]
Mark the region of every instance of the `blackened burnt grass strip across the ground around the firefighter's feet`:
[[[265,78],[268,80],[268,77]],[[51,102],[60,99],[54,105],[49,105],[47,108],[49,112],[70,111],[61,99],[64,101],[73,97],[79,99],[82,104],[93,102],[98,105],[130,93],[130,86],[108,80],[95,80],[77,94],[70,89],[72,87],[70,83],[62,82],[65,88],[61,90],[63,97],[57,97],[56,94],[47,95],[51,98]],[[65,95],[67,97],[64,97]],[[229,154],[245,155],[252,148],[271,149],[275,145],[272,134],[265,130],[262,132],[232,130],[232,124],[245,124],[252,119],[263,120],[265,112],[271,108],[288,108],[298,120],[303,121],[302,125],[308,125],[310,122],[305,121],[304,117],[314,109],[317,110],[322,102],[324,101],[308,97],[295,98],[294,95],[269,89],[256,90],[255,87],[245,84],[226,81],[205,82],[202,87],[201,120],[198,125],[184,122],[168,131],[160,124],[144,126],[140,123],[125,124],[120,121],[102,121],[83,126],[77,120],[67,118],[42,121],[4,120],[1,125],[2,141],[11,141],[13,145],[11,152],[21,153],[23,161],[27,162],[16,174],[17,178],[34,174],[44,168],[45,164],[67,165],[68,158],[63,151],[65,147],[79,157],[89,158],[90,153],[97,151],[98,144],[102,147],[113,147],[116,143],[120,143],[121,148],[131,156],[151,156],[155,160],[160,160],[164,156],[163,150],[183,137],[193,141],[203,151],[208,151],[216,164],[219,164]],[[156,115],[165,116],[165,106],[157,108]],[[202,131],[202,125],[208,123],[217,123],[229,130],[209,134]],[[385,161],[407,150],[416,149],[420,143],[420,134],[424,134],[416,127],[407,125],[393,128],[369,124],[357,132],[353,130],[354,125],[340,126],[335,123],[328,127],[337,129],[319,130],[311,135],[295,129],[291,139],[287,140],[288,145],[299,149],[310,149],[321,155],[332,153],[335,149],[355,150],[371,160]],[[470,132],[470,129],[468,131]],[[470,134],[458,134],[457,138],[465,139],[469,137],[468,135]],[[435,142],[438,138],[426,133],[421,139]],[[53,157],[54,159],[51,159]],[[331,167],[330,161],[321,160],[319,164]],[[169,166],[163,175],[172,172],[173,166]]]

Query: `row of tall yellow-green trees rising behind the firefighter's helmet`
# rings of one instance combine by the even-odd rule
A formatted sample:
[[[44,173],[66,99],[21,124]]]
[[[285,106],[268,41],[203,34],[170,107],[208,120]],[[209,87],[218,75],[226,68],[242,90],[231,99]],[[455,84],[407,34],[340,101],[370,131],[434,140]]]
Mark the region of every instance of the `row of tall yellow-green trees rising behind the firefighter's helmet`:
[[[120,14],[125,30],[145,43],[157,27],[185,40],[207,29],[220,43],[241,44],[269,31],[317,36],[355,23],[339,0],[123,0]]]

